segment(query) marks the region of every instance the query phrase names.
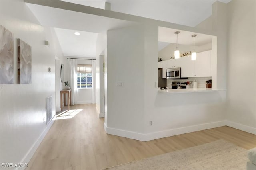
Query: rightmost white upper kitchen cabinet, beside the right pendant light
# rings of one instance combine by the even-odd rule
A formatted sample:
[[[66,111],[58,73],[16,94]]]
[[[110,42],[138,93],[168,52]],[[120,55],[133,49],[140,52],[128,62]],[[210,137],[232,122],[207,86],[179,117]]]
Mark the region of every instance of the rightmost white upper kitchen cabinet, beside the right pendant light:
[[[210,77],[211,75],[211,50],[197,53],[194,61],[194,77]]]

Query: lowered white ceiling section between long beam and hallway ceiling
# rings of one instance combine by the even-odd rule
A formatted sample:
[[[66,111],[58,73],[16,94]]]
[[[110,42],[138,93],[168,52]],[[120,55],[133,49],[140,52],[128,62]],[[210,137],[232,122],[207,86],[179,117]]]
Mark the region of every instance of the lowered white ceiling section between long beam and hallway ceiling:
[[[43,26],[106,33],[109,29],[128,27],[135,22],[85,14],[59,8],[26,3]]]

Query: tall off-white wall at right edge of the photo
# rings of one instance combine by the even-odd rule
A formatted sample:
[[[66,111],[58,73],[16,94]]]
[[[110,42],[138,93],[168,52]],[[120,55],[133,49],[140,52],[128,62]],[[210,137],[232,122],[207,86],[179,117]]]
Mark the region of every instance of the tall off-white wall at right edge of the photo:
[[[256,134],[256,1],[233,0],[228,14],[227,119]]]

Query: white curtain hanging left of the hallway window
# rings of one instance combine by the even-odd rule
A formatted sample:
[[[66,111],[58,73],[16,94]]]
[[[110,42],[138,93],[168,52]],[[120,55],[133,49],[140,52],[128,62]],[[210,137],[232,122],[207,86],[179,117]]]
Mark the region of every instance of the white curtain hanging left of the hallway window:
[[[71,88],[71,104],[75,105],[77,96],[77,59],[68,59],[69,84]]]

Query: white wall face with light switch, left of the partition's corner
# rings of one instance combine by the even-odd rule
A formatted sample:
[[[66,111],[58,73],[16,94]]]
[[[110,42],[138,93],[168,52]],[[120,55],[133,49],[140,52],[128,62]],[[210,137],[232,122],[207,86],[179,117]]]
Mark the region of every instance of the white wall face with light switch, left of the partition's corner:
[[[155,61],[157,62],[156,56]],[[123,83],[123,87],[117,87],[118,82]],[[107,94],[105,93],[107,126],[143,133],[143,25],[107,31],[107,83],[105,86],[107,88]]]

